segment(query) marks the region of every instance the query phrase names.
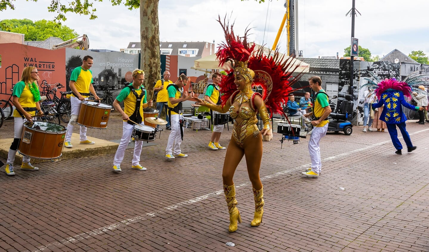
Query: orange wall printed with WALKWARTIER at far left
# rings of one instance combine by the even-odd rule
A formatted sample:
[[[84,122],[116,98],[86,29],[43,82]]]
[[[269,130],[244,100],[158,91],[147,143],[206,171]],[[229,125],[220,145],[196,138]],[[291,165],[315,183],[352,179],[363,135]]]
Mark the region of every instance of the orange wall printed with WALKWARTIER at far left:
[[[0,99],[7,100],[10,89],[21,79],[22,70],[35,66],[40,82],[66,86],[66,50],[47,50],[17,43],[0,44]]]

